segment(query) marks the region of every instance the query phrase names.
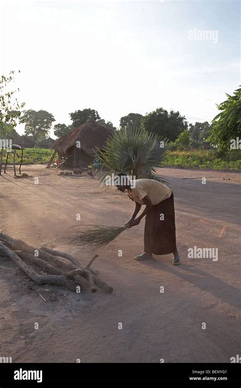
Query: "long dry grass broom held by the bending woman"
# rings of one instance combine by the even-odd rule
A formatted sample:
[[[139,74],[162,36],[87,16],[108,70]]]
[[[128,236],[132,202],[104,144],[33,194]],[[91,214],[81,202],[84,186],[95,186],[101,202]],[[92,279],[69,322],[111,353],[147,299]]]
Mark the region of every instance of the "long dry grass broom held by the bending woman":
[[[98,247],[107,245],[113,241],[120,233],[128,229],[127,226],[122,227],[105,227],[94,225],[92,228],[85,228],[72,240],[76,245],[92,245]]]

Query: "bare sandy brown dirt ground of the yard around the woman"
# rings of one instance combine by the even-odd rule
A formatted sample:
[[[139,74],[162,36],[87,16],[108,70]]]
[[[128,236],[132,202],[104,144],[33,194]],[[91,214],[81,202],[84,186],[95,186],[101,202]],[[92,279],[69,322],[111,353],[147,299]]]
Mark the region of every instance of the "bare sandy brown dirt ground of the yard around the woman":
[[[143,252],[144,220],[98,251],[69,243],[77,225],[124,225],[133,211],[125,193],[102,190],[98,179],[60,177],[44,165],[22,172],[31,177],[14,179],[12,167],[0,177],[0,229],[81,263],[97,253],[93,268],[114,291],[37,286],[0,257],[0,356],[36,363],[223,363],[240,354],[238,173],[159,170],[174,193],[182,265],[173,266],[172,255],[134,260]],[[188,258],[194,245],[217,247],[218,260]]]

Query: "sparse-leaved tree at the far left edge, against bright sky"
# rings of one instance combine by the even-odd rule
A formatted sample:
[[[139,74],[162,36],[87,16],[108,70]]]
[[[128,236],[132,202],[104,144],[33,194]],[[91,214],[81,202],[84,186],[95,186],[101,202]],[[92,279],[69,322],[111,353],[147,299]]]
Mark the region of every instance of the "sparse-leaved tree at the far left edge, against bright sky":
[[[20,70],[19,70],[20,72]],[[9,76],[2,75],[0,78],[0,130],[2,135],[7,136],[17,125],[17,120],[21,115],[21,109],[25,103],[18,102],[16,98],[17,90],[11,90],[14,83],[15,71],[10,71]]]

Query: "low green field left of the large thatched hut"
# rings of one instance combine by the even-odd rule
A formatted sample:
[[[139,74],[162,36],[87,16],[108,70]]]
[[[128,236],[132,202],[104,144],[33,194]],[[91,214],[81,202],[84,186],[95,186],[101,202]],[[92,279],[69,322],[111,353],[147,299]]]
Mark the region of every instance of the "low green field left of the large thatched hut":
[[[16,151],[16,163],[20,162],[21,158],[21,150]],[[46,163],[49,161],[51,155],[53,154],[53,150],[49,150],[47,148],[26,148],[23,151],[23,164],[32,164],[32,163]],[[3,162],[6,161],[7,153],[4,153]],[[13,163],[13,151],[10,152],[8,156],[8,163]]]

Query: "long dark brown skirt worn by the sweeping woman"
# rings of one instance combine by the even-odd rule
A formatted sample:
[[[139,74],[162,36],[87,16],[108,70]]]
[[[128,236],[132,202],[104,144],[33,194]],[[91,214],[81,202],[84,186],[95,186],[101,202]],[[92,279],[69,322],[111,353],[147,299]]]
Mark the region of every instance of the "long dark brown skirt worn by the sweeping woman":
[[[164,215],[164,219],[163,215]],[[173,193],[154,205],[145,216],[144,251],[168,255],[176,251],[176,228]]]

